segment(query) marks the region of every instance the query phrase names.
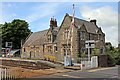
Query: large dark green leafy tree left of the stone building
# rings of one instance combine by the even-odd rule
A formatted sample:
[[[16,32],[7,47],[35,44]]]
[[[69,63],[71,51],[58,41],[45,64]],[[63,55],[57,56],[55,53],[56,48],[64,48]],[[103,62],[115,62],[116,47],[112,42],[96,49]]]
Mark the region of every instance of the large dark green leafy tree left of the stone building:
[[[2,26],[2,47],[5,47],[5,42],[12,42],[13,49],[19,49],[21,40],[25,40],[31,33],[28,27],[28,23],[20,19],[14,19],[11,23],[5,22]]]

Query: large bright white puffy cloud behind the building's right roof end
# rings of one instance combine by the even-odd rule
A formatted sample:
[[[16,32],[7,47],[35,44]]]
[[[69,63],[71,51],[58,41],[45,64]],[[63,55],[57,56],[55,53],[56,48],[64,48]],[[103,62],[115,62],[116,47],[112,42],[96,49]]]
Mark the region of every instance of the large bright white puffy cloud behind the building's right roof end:
[[[80,8],[81,16],[88,20],[97,19],[98,26],[102,27],[106,34],[106,41],[112,42],[113,46],[118,45],[118,13],[111,6],[93,8],[83,6]]]

